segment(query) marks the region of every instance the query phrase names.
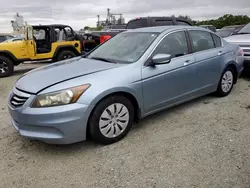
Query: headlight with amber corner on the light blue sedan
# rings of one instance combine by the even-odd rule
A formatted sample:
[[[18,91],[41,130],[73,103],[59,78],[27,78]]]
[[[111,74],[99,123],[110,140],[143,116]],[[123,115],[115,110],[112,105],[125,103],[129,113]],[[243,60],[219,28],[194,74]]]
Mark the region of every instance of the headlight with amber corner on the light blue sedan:
[[[38,95],[31,107],[52,107],[75,103],[89,87],[90,85],[86,84],[53,93]]]

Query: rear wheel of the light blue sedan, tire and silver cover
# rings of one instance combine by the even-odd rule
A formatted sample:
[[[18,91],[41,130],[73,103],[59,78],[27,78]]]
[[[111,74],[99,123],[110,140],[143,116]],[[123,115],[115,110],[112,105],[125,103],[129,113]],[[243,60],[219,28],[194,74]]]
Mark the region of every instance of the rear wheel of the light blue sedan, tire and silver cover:
[[[220,78],[216,94],[219,97],[225,97],[231,93],[235,83],[235,73],[231,67],[227,67]],[[223,84],[224,83],[224,84]],[[223,86],[224,85],[224,86]]]

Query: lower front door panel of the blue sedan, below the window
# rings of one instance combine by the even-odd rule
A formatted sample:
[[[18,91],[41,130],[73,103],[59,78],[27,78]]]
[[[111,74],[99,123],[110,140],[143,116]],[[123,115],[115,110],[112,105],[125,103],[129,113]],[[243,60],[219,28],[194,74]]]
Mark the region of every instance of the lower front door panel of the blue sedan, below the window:
[[[183,101],[196,95],[194,56],[186,55],[172,59],[169,64],[144,67],[142,79],[145,113]]]

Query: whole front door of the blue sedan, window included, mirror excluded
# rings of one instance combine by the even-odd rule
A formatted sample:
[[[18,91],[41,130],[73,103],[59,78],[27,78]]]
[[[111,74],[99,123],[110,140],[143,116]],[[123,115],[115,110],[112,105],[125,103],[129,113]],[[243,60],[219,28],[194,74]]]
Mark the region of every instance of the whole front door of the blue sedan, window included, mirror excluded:
[[[183,101],[195,94],[197,88],[195,59],[188,54],[184,31],[168,34],[152,53],[169,54],[168,64],[142,68],[145,113]]]

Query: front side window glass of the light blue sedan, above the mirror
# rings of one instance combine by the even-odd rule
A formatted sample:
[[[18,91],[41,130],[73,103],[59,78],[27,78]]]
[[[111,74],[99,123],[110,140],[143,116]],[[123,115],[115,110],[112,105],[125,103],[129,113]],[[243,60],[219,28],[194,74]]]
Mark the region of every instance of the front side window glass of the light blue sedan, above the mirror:
[[[188,54],[188,45],[184,31],[166,36],[156,47],[153,55],[170,54],[172,58]]]

